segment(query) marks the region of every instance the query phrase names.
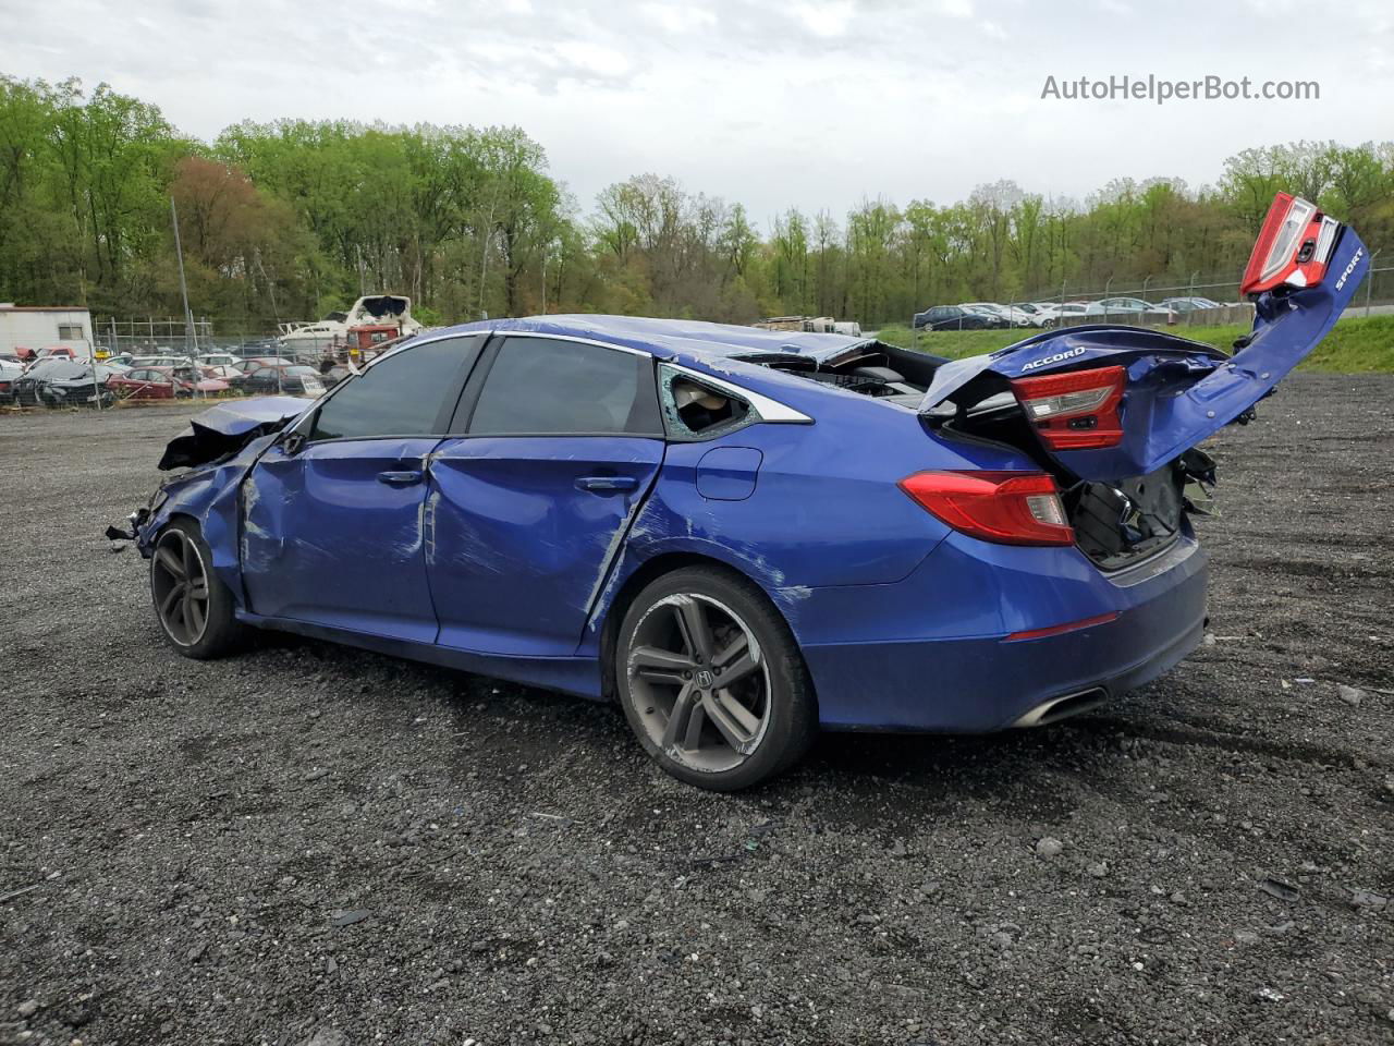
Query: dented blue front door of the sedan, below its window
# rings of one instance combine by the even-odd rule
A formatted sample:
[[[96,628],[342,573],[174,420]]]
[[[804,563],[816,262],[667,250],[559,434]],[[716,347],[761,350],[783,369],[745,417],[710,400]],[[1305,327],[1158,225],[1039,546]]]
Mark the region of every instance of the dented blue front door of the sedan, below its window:
[[[420,643],[436,637],[424,509],[438,437],[276,445],[243,488],[254,614]]]

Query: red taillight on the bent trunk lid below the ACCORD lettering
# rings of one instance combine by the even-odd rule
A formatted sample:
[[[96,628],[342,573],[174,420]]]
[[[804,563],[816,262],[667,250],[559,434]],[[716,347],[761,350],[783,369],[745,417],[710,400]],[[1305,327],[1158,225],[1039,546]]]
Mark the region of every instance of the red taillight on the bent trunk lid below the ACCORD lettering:
[[[1124,441],[1118,406],[1126,385],[1126,367],[1098,367],[1018,378],[1012,392],[1051,450],[1093,450]]]

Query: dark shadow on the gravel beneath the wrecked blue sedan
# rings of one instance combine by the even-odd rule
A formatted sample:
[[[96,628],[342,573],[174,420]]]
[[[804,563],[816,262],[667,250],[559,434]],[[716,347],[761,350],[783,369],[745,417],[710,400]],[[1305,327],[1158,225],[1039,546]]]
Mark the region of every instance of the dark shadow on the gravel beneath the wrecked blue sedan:
[[[537,774],[544,767],[556,773],[566,766],[613,764],[616,759],[633,763],[633,773],[620,775],[619,788],[636,785],[651,773],[613,703],[289,633],[266,633],[258,639],[258,649],[279,651],[272,657],[322,675],[336,692],[335,700],[368,706],[385,718],[400,717],[404,689],[443,697],[454,724],[453,755],[445,770],[456,781],[485,773]],[[728,801],[781,808],[815,787],[832,794],[820,801],[822,816],[864,826],[894,827],[892,821],[906,816],[928,817],[966,796],[988,801],[1004,814],[1025,820],[1058,820],[1073,805],[1058,787],[1041,782],[1068,775],[1087,785],[1118,753],[1111,724],[1108,715],[1090,714],[1047,728],[987,735],[828,732],[793,771]],[[898,802],[891,809],[884,802],[888,792],[902,799],[913,796],[913,803]]]

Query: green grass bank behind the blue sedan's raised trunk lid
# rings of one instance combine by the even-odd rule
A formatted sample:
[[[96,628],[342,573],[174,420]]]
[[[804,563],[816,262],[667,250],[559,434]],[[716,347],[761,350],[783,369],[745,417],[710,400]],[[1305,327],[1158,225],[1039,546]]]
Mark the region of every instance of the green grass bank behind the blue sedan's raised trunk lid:
[[[1234,342],[1248,333],[1248,328],[1232,326],[1172,326],[1165,328],[1181,338],[1204,342],[1225,351],[1234,351]],[[881,328],[877,335],[882,342],[902,349],[916,347],[921,351],[959,360],[965,356],[980,356],[997,349],[1005,349],[1034,331],[931,331],[912,338],[910,328],[892,324]],[[1334,374],[1369,374],[1394,371],[1394,315],[1349,317],[1337,321],[1322,344],[1302,361],[1298,370],[1327,371]]]

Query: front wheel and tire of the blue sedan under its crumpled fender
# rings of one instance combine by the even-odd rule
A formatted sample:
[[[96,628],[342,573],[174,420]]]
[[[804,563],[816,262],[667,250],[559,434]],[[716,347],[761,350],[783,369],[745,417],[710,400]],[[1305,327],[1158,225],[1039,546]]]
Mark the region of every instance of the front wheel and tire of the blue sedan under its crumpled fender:
[[[198,661],[237,650],[248,632],[212,568],[213,554],[194,520],[176,519],[160,531],[151,555],[155,619],[174,650]]]

